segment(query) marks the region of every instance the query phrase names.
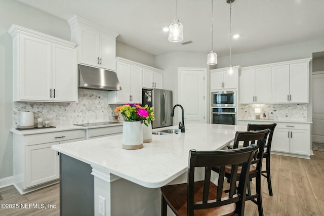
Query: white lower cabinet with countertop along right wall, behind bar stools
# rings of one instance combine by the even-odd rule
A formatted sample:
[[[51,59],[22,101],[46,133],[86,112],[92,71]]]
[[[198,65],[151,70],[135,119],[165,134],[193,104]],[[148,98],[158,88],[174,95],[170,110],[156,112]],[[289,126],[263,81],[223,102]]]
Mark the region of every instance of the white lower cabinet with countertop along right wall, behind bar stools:
[[[276,122],[274,120],[238,120],[239,125],[277,123],[271,144],[271,153],[309,158],[310,123]]]

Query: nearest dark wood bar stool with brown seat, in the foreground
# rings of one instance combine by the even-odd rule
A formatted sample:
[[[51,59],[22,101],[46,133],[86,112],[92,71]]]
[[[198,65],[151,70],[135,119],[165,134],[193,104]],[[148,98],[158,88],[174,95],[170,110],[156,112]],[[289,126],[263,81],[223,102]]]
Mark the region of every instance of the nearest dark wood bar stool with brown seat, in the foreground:
[[[188,183],[161,187],[161,215],[167,216],[167,206],[177,216],[244,215],[248,168],[258,147],[255,145],[230,150],[189,152]],[[233,169],[229,192],[223,190],[225,165]],[[211,182],[211,167],[219,166],[217,186]],[[236,193],[237,169],[241,167]],[[194,181],[195,167],[205,167],[203,181]]]

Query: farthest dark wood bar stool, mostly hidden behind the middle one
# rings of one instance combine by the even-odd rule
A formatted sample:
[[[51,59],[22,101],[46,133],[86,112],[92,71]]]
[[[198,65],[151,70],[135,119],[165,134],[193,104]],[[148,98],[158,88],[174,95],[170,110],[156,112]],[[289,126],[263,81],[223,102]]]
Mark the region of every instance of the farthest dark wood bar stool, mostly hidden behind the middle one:
[[[274,132],[274,128],[277,124],[248,124],[248,131],[260,131],[263,129],[270,129],[270,133],[268,136],[268,140],[265,145],[265,150],[263,154],[263,159],[266,161],[266,170],[262,170],[261,174],[263,177],[267,178],[268,182],[268,190],[269,195],[272,196],[272,186],[271,186],[271,175],[270,175],[270,151],[271,151],[271,143],[272,143],[272,136]]]

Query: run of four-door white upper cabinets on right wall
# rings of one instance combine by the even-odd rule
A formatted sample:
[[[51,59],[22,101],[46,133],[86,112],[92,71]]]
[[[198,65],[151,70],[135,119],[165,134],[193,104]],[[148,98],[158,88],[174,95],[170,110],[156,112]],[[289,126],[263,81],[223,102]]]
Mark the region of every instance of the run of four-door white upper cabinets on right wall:
[[[310,60],[242,67],[239,76],[239,102],[308,103]]]

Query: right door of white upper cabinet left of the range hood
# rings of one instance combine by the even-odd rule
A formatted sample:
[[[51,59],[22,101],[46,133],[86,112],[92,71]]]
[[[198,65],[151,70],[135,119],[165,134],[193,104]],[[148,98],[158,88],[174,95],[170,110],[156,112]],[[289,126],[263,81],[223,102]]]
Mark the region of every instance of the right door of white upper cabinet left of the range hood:
[[[77,102],[76,50],[53,44],[52,51],[52,99]]]

